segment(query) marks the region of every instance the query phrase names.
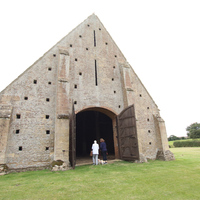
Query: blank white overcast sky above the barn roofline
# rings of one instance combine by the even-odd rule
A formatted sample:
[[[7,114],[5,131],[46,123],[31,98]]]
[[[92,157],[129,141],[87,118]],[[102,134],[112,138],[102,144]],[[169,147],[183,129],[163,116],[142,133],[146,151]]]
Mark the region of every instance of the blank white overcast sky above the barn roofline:
[[[1,0],[0,91],[95,13],[158,105],[167,134],[200,122],[200,1]]]

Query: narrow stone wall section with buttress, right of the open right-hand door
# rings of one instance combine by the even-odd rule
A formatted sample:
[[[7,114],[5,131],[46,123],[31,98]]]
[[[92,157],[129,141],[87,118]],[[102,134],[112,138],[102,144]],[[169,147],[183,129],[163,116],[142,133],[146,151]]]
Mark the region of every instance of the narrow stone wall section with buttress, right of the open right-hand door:
[[[146,159],[156,159],[157,152],[167,144],[166,139],[161,142],[160,130],[155,126],[159,109],[131,66],[127,63],[123,69],[128,105],[135,105],[139,152]]]

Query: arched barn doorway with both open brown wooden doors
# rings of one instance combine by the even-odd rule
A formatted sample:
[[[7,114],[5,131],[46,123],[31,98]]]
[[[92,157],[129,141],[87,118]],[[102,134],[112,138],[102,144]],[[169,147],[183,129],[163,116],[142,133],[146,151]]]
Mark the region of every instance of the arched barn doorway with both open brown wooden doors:
[[[117,123],[116,123],[117,122]],[[94,140],[104,138],[112,158],[138,160],[139,149],[134,105],[119,115],[104,108],[88,108],[70,117],[69,161],[75,168],[76,158],[88,157]],[[113,154],[112,154],[113,153]],[[85,163],[86,164],[86,163]]]

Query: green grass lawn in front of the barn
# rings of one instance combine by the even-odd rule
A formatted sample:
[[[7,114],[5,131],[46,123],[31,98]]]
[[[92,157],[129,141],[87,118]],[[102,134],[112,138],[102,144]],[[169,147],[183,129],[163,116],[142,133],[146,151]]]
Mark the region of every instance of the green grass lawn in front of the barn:
[[[0,176],[0,199],[200,199],[200,148],[170,149],[175,161],[115,162]]]

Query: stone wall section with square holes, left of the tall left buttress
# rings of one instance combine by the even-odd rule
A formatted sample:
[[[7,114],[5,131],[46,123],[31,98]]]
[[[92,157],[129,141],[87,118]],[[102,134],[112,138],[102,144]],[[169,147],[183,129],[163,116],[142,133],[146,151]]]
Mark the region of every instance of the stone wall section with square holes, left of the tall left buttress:
[[[13,107],[6,151],[9,168],[45,166],[52,160],[56,69],[56,57],[49,52],[0,94],[0,104]]]

